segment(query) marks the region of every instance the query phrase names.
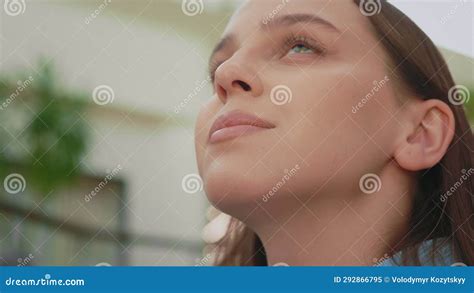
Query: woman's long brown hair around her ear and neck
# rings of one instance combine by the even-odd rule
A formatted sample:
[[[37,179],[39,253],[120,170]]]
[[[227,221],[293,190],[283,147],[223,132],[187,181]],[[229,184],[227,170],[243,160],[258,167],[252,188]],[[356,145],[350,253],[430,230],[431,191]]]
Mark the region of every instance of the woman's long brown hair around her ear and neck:
[[[364,0],[353,1],[358,6],[364,4]],[[368,18],[390,63],[395,65],[398,79],[417,96],[448,104],[455,119],[454,138],[442,160],[418,173],[409,231],[397,250],[404,251],[403,264],[419,265],[419,245],[429,239],[444,239],[453,244],[451,249],[456,258],[474,265],[474,190],[470,176],[464,175],[473,171],[473,135],[462,105],[449,100],[449,94],[456,95],[451,90],[455,87],[453,77],[444,58],[422,30],[390,3],[385,0],[379,3],[380,12]],[[466,177],[459,186],[460,178]],[[436,245],[439,243],[433,246],[433,257]],[[395,252],[395,249],[391,251]],[[267,265],[258,236],[235,218],[217,243],[216,257],[216,265]]]

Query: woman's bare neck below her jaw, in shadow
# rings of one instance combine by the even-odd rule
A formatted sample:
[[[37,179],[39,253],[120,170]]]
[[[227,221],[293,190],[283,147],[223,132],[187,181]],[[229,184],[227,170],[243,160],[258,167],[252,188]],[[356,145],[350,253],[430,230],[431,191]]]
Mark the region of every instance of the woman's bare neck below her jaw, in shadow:
[[[259,204],[258,219],[247,225],[262,240],[269,265],[375,265],[395,252],[408,227],[409,178],[389,178],[392,184],[382,177],[374,194],[320,194],[307,202],[282,194],[284,209],[281,202],[273,204],[279,209]]]

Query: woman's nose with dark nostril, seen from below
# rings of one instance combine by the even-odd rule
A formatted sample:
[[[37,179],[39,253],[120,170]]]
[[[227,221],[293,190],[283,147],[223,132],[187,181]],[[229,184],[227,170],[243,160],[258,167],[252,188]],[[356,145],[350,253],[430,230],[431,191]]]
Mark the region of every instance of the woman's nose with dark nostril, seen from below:
[[[263,93],[258,72],[249,65],[249,61],[239,57],[232,57],[217,68],[214,86],[223,104],[227,103],[231,96],[258,97]]]

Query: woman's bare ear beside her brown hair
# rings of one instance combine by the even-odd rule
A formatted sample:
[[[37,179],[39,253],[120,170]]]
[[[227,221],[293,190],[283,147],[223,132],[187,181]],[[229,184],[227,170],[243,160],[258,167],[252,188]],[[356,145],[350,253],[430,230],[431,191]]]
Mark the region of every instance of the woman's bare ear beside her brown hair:
[[[409,106],[408,124],[395,150],[395,160],[404,169],[419,171],[436,165],[454,136],[454,114],[441,100],[416,100]]]

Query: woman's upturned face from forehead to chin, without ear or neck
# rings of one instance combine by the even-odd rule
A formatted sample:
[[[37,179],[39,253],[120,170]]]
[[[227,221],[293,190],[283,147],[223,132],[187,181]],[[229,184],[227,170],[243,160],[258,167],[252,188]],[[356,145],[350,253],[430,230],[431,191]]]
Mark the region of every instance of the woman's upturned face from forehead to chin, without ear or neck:
[[[256,201],[361,193],[401,127],[386,60],[351,0],[246,2],[211,57],[216,94],[197,120],[210,201],[245,218]]]

